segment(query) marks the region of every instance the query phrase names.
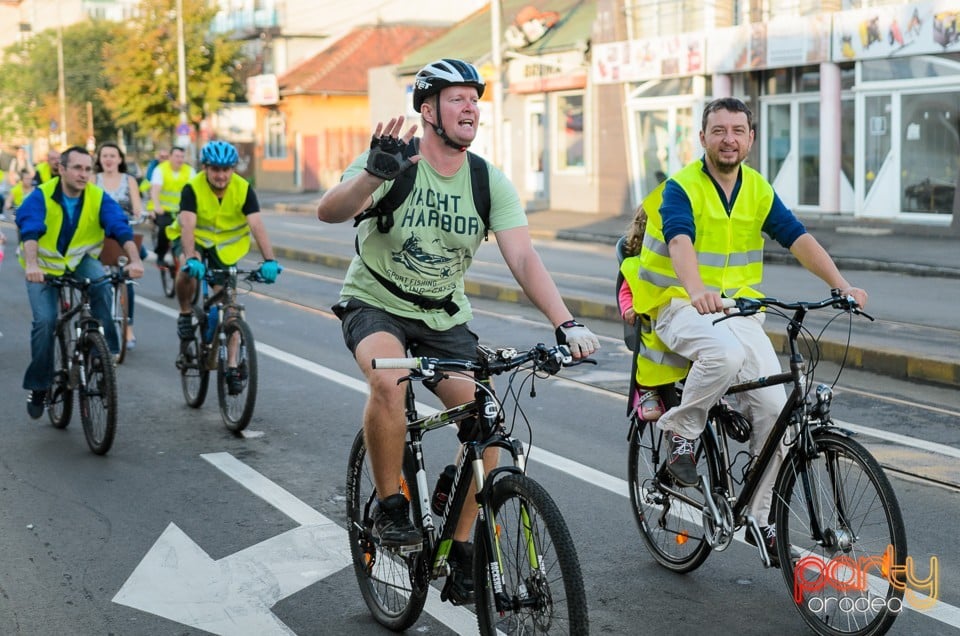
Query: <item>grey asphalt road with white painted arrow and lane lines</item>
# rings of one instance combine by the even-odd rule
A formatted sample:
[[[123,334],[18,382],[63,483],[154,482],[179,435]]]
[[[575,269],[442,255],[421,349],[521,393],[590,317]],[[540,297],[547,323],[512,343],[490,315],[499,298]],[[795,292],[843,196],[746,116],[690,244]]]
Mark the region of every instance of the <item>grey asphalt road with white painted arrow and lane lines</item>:
[[[562,249],[568,261],[596,258]],[[148,268],[138,289],[137,348],[119,368],[117,439],[109,455],[96,457],[78,421],[59,431],[26,416],[20,381],[29,307],[19,269],[6,265],[0,633],[386,633],[370,618],[344,559],[346,455],[364,395],[328,310],[338,269],[288,261],[278,285],[244,297],[261,387],[254,421],[235,437],[220,423],[215,395],[200,409],[185,406],[173,366],[176,310]],[[603,289],[586,284],[598,294],[610,286],[609,279]],[[474,305],[473,326],[487,343],[520,347],[552,338],[525,305]],[[570,526],[593,632],[806,633],[779,571],[763,570],[742,543],[686,576],[662,570],[647,554],[625,496],[629,354],[619,324],[591,326],[602,337],[600,364],[538,382],[537,397],[525,394],[523,404],[533,446],[543,451],[531,454],[530,474]],[[818,379],[835,375],[825,363]],[[957,633],[960,395],[848,371],[834,415],[862,427],[861,441],[890,468],[917,572],[938,560],[941,603],[934,612],[906,611],[892,633]],[[433,437],[427,460],[438,473],[454,440],[447,431]],[[467,610],[439,603],[428,610],[418,632],[473,628]]]

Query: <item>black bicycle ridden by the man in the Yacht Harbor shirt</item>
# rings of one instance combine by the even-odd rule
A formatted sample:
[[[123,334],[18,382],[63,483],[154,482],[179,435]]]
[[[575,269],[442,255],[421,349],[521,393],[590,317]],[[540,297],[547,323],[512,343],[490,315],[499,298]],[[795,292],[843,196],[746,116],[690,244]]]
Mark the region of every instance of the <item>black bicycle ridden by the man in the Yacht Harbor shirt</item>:
[[[460,515],[466,506],[476,505],[473,580],[480,633],[588,632],[586,595],[573,540],[553,499],[526,474],[523,443],[512,432],[518,417],[527,421],[517,401],[523,384],[530,380],[532,395],[536,378],[556,374],[571,361],[565,346],[548,348],[543,344],[524,353],[480,346],[476,360],[373,361],[378,369],[410,369],[410,375],[401,380],[407,382],[408,439],[400,491],[411,502],[414,526],[423,533],[422,545],[413,551],[383,547],[373,537],[371,507],[377,493],[360,431],[347,467],[347,523],[360,591],[377,622],[395,631],[416,622],[430,581],[450,574],[447,557]],[[509,430],[504,404],[490,382],[493,376],[507,372],[504,395],[514,400]],[[522,380],[515,387],[518,377]],[[434,415],[417,412],[414,381],[455,380],[475,384],[472,402]],[[446,505],[435,524],[422,441],[426,433],[451,424],[459,424],[473,435],[467,435],[472,441],[460,450]],[[488,448],[508,452],[512,465],[484,475],[483,454]],[[471,480],[476,485],[476,501],[467,500]]]

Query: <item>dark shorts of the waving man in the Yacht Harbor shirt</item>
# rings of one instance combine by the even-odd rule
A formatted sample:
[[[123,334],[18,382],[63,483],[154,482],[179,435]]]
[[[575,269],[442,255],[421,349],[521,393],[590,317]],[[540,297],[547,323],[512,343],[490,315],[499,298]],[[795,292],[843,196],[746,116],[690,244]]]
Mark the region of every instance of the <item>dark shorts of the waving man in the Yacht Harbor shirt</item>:
[[[411,356],[466,360],[477,357],[480,339],[466,325],[437,331],[422,320],[395,316],[353,298],[334,305],[333,311],[340,318],[343,341],[351,353],[370,334],[386,332],[403,343]]]

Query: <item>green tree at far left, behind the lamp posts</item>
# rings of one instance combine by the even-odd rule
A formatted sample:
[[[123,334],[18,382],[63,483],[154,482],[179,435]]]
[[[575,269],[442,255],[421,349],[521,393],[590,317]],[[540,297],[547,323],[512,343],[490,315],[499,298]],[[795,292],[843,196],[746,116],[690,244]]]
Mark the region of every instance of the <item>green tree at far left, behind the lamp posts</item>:
[[[83,144],[91,123],[97,139],[113,139],[117,134],[103,99],[109,87],[104,75],[103,47],[122,31],[121,25],[103,21],[80,22],[63,29],[69,144]],[[4,50],[0,65],[0,102],[4,106],[0,132],[4,136],[46,134],[54,125],[60,125],[58,76],[55,29]]]

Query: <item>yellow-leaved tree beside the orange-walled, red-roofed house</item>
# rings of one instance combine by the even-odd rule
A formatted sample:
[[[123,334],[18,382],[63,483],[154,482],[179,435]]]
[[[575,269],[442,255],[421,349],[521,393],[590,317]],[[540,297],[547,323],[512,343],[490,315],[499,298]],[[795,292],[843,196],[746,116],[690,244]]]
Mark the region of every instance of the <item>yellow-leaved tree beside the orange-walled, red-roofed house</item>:
[[[235,98],[232,70],[240,43],[210,33],[216,14],[209,0],[182,0],[187,118],[196,126]],[[109,104],[120,126],[143,138],[166,136],[180,117],[176,0],[142,0],[124,37],[104,48]],[[106,91],[105,91],[106,92]]]

